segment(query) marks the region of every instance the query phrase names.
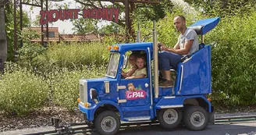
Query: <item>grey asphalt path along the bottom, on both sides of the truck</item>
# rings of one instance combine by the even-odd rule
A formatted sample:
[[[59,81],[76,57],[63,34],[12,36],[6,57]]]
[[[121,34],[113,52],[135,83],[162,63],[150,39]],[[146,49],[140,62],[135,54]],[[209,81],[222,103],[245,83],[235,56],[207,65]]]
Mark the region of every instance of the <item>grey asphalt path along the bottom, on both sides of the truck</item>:
[[[41,127],[35,129],[14,130],[2,132],[0,135],[17,135],[25,133],[35,133],[52,130],[52,127]],[[88,133],[98,135],[98,133]],[[120,130],[118,135],[256,135],[256,121],[244,123],[220,123],[208,125],[202,131],[190,131],[184,126],[179,126],[175,130],[163,130],[161,126],[140,126],[128,130]]]

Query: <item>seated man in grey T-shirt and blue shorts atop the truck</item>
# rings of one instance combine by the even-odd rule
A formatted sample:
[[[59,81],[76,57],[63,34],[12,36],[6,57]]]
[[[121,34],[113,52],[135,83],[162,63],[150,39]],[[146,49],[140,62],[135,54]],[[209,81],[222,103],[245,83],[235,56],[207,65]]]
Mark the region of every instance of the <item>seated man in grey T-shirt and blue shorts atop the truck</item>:
[[[162,45],[162,52],[158,54],[159,70],[165,79],[159,84],[160,87],[172,87],[173,80],[171,79],[170,67],[172,66],[172,68],[176,69],[184,55],[192,54],[199,48],[197,33],[186,27],[184,16],[176,16],[173,24],[176,30],[180,31],[180,37],[174,48]]]

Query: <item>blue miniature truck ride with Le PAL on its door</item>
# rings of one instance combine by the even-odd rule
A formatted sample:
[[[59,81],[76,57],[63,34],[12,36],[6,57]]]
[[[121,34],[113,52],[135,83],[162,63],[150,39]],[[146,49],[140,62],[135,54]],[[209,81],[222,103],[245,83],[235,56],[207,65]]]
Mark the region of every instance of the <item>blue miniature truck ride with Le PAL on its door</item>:
[[[211,46],[204,34],[219,23],[219,17],[199,20],[190,26],[201,35],[200,49],[181,59],[173,87],[158,86],[158,43],[155,25],[153,42],[114,44],[104,78],[81,79],[76,113],[91,123],[100,134],[116,134],[120,121],[158,120],[165,129],[183,123],[190,130],[204,130],[214,122],[214,108],[206,95],[211,87]],[[155,23],[154,23],[155,24]],[[148,76],[126,80],[126,52],[144,52]],[[153,65],[153,66],[152,66]],[[156,75],[156,76],[154,76]]]

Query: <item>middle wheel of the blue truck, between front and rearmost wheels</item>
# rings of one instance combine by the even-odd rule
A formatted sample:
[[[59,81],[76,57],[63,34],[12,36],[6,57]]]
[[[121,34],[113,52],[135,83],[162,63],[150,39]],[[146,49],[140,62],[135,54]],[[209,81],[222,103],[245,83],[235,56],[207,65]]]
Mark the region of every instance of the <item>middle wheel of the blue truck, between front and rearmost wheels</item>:
[[[158,122],[166,130],[179,126],[182,119],[180,108],[161,109],[158,112]]]

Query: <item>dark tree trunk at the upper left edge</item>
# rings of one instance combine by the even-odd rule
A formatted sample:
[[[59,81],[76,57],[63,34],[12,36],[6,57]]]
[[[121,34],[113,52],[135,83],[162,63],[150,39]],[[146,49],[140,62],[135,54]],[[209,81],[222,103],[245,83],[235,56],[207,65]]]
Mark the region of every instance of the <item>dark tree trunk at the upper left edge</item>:
[[[0,0],[0,3],[1,0]],[[0,6],[0,70],[4,67],[7,59],[7,38],[5,33],[5,8]]]

